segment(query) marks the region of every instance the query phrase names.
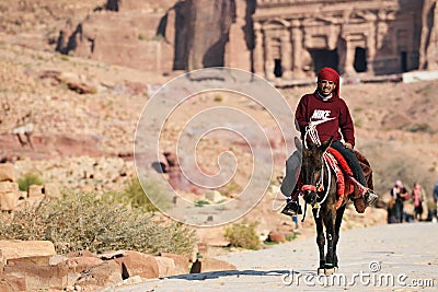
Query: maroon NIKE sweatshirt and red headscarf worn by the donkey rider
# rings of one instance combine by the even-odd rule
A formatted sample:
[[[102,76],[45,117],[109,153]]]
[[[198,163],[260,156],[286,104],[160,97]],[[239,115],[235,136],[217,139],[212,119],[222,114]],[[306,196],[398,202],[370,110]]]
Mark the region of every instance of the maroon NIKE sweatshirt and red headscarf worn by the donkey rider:
[[[327,74],[321,74],[326,72],[323,70],[321,70],[318,75],[319,80],[325,79],[334,81],[337,85],[337,90],[333,91],[332,97],[326,101],[318,94],[318,90],[313,94],[306,94],[301,97],[295,116],[300,127],[302,138],[304,137],[306,126],[308,126],[310,121],[314,121],[319,122],[316,130],[321,142],[328,140],[331,137],[333,137],[333,141],[344,138],[345,142],[354,147],[355,129],[347,104],[338,95],[338,75],[337,80],[335,75],[333,78],[327,78]],[[322,75],[324,78],[322,78]]]

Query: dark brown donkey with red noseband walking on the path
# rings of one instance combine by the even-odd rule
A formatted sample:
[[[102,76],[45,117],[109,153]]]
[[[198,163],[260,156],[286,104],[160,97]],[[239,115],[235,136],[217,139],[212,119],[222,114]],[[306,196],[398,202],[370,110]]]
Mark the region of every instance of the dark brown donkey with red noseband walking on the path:
[[[337,270],[336,246],[348,197],[337,196],[336,175],[324,161],[332,139],[321,145],[308,142],[302,150],[301,191],[306,203],[312,207],[316,225],[316,244],[320,252],[318,273],[332,275]],[[356,192],[356,188],[354,192]],[[338,201],[344,200],[344,201]],[[327,252],[324,255],[325,226]]]

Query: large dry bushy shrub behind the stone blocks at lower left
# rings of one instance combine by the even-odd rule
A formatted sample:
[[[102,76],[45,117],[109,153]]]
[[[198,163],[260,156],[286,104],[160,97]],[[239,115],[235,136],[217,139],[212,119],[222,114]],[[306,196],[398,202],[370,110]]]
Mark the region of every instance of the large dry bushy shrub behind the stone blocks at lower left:
[[[132,249],[154,255],[189,255],[196,241],[194,231],[181,223],[93,194],[45,199],[37,208],[25,208],[13,218],[2,214],[0,240],[50,241],[58,254]]]

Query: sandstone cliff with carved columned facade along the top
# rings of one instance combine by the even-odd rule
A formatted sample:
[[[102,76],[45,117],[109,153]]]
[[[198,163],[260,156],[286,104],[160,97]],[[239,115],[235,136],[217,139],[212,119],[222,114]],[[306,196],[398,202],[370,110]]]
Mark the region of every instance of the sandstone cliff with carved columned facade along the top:
[[[57,50],[155,72],[228,66],[287,81],[331,66],[391,74],[438,67],[436,14],[436,0],[114,0],[67,22]]]

